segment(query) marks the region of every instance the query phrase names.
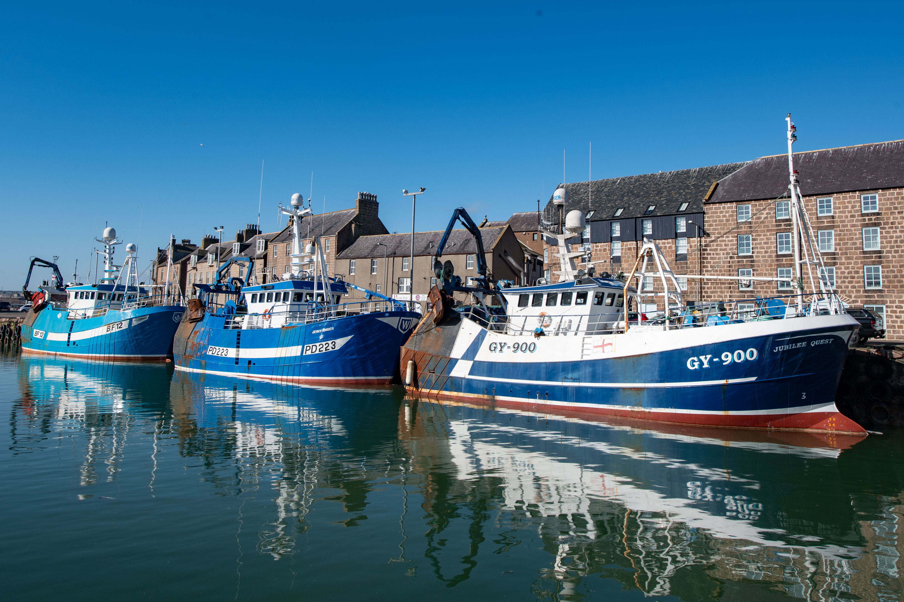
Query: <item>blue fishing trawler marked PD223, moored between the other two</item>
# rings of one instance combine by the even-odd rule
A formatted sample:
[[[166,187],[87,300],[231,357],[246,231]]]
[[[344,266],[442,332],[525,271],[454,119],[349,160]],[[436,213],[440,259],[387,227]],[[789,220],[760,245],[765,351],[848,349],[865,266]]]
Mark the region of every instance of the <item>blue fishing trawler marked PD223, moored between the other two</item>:
[[[254,260],[232,256],[216,283],[194,284],[199,298],[189,301],[175,335],[176,369],[291,383],[389,384],[420,314],[331,277],[320,237],[302,248],[302,219],[312,211],[300,194],[280,211],[293,220],[287,273],[254,283]],[[229,278],[233,264],[240,264],[238,278]],[[367,301],[343,302],[349,289]]]

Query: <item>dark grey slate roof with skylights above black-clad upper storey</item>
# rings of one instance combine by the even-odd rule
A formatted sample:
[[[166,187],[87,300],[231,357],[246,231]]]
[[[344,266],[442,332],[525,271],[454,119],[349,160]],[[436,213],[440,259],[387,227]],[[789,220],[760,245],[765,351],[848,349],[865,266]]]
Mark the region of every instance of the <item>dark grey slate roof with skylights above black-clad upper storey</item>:
[[[625,208],[620,217],[637,218],[642,215],[664,216],[678,213],[683,202],[690,203],[686,213],[703,210],[703,197],[710,190],[712,182],[719,181],[730,173],[738,171],[748,162],[722,163],[690,170],[661,171],[623,178],[608,178],[589,182],[560,184],[568,190],[569,198],[565,212],[571,209],[588,211],[588,196],[592,193],[591,207],[594,215],[591,221],[610,219],[618,208]],[[655,205],[652,213],[646,208]],[[543,211],[547,221],[557,219],[552,205],[552,197]]]

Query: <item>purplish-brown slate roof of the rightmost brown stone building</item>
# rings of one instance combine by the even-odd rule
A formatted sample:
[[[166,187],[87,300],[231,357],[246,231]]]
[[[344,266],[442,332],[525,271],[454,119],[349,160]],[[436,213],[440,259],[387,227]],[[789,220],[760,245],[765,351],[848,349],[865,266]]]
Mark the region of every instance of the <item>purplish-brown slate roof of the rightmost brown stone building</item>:
[[[794,163],[807,196],[904,186],[904,140],[794,153]],[[787,155],[760,157],[722,178],[707,204],[776,199],[787,187]]]

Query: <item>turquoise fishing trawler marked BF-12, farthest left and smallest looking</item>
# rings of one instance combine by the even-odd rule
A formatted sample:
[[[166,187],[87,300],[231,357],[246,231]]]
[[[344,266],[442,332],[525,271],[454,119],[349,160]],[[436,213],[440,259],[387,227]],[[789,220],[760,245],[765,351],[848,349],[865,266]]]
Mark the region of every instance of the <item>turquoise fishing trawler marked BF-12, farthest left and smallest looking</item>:
[[[103,360],[162,360],[173,355],[173,337],[184,307],[179,294],[137,282],[137,246],[126,245],[123,265],[113,264],[116,230],[104,230],[104,276],[97,284],[66,285],[56,264],[33,258],[25,279],[22,348],[26,352]],[[29,292],[35,265],[53,270],[51,280]]]

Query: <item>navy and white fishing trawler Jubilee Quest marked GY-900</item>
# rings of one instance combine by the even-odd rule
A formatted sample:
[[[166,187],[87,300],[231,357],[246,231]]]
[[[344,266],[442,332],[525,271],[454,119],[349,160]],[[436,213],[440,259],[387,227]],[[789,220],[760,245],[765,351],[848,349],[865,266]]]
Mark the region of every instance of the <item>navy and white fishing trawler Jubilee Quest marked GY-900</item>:
[[[858,323],[824,279],[816,277],[817,289],[811,272],[813,291],[805,295],[803,289],[801,265],[811,270],[822,258],[799,200],[793,127],[789,120],[793,227],[803,243],[795,245],[796,294],[748,300],[755,301],[754,310],[738,302],[688,307],[662,250],[646,238],[625,281],[585,273],[574,264],[582,252],[569,251],[584,228],[584,215],[571,211],[564,225],[560,217],[558,227],[544,232],[558,240],[560,282],[500,288],[483,281],[461,287],[437,256],[442,288],[430,292],[432,310],[402,349],[410,393],[537,412],[863,433],[834,403]],[[566,195],[560,189],[553,196],[560,214]],[[636,278],[661,282],[663,292],[634,286]],[[463,306],[455,292],[475,301]],[[641,309],[652,294],[665,309],[648,320]]]

